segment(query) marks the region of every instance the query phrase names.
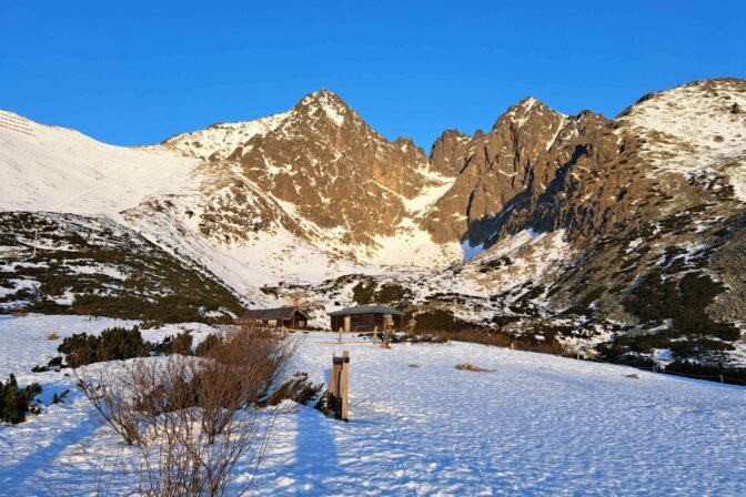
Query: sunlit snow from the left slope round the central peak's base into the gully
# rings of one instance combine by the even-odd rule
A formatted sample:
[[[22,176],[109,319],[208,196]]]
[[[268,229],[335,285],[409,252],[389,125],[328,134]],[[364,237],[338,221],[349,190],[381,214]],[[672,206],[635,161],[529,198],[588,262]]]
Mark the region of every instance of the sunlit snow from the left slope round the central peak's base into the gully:
[[[306,105],[324,112],[340,109],[331,92],[309,95]],[[350,272],[381,273],[379,264],[443,266],[461,258],[457,244],[438,245],[416,220],[453,184],[423,169],[426,187],[414,199],[397,195],[409,213],[391,236],[379,236],[373,246],[353,251],[344,230],[321,230],[288,202],[259,189],[239,164],[216,168],[202,160],[212,153],[229,155],[250,138],[265,134],[290,112],[245,123],[221,123],[169,139],[161,145],[125,149],[97,142],[72,130],[34,123],[10,112],[0,113],[0,210],[70,212],[105,215],[137,230],[174,256],[195,261],[255,303],[271,304],[259,287],[281,281],[316,283]],[[339,121],[339,120],[337,120]],[[199,146],[194,145],[199,143]],[[196,146],[196,148],[194,148]],[[185,156],[184,156],[185,155]],[[268,164],[268,170],[282,170]],[[262,221],[284,212],[303,226],[310,240],[280,223],[259,233],[230,226],[243,240],[214,240],[203,235],[200,220],[215,202],[233,202],[233,181],[246,185],[245,210]],[[205,205],[206,204],[206,205]],[[165,207],[164,205],[168,205]],[[266,213],[262,205],[274,211]],[[190,215],[186,215],[186,213]],[[280,247],[280,253],[278,253]],[[103,266],[74,268],[108,272]],[[124,278],[127,275],[113,275]]]

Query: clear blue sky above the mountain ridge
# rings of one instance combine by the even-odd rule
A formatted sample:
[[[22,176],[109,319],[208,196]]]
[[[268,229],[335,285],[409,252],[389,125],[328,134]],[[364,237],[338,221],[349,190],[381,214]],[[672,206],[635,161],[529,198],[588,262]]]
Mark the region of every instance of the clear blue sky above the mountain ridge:
[[[744,1],[397,3],[0,0],[0,109],[131,145],[329,88],[429,150],[527,95],[613,116],[746,77]]]

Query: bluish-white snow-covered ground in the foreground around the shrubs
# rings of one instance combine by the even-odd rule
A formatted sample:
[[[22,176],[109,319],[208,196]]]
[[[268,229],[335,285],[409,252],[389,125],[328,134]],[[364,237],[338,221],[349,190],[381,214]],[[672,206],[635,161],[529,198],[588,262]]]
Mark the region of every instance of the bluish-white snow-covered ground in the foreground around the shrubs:
[[[30,373],[58,344],[48,332],[113,323],[0,320],[0,372],[40,382],[51,397],[72,381]],[[385,351],[323,333],[292,339],[303,343],[291,371],[316,382],[333,351],[350,349],[351,422],[303,406],[281,414],[254,494],[746,494],[746,388],[464,343]],[[496,372],[457,371],[460,363]],[[85,494],[131,452],[73,392],[67,404],[0,427],[0,494],[47,495],[44,484]],[[122,488],[132,485],[132,474],[115,473]]]

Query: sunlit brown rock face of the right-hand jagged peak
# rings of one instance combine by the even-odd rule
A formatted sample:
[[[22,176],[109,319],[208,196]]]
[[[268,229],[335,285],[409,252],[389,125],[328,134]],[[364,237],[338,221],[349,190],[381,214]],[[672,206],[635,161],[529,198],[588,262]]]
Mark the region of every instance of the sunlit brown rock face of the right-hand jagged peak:
[[[487,134],[477,132],[467,141],[446,132],[433,146],[431,162],[437,170],[461,174],[424,226],[441,243],[485,243],[502,221],[497,214],[535,203],[557,171],[579,155],[607,153],[606,144],[602,152],[588,143],[607,125],[598,114],[567,118],[530,98],[512,106]]]

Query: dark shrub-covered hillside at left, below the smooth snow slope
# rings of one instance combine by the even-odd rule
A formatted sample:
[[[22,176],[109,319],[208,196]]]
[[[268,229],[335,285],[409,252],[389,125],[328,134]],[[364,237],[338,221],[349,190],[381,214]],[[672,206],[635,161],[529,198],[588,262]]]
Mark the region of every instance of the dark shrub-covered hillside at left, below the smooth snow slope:
[[[173,322],[230,317],[245,304],[199,261],[105,216],[0,212],[0,225],[3,313]]]

